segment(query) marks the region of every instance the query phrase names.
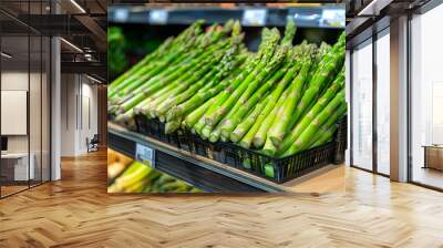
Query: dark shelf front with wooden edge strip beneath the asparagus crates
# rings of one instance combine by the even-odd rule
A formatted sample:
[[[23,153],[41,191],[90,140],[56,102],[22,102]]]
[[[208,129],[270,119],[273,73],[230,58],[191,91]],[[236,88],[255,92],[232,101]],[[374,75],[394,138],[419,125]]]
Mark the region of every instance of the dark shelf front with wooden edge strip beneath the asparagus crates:
[[[114,123],[107,124],[109,147],[135,158],[137,144],[155,151],[155,169],[189,183],[205,192],[262,193],[293,192],[297,179],[275,184],[213,159],[190,154]],[[332,166],[337,167],[337,166]],[[318,174],[316,172],[315,174]]]

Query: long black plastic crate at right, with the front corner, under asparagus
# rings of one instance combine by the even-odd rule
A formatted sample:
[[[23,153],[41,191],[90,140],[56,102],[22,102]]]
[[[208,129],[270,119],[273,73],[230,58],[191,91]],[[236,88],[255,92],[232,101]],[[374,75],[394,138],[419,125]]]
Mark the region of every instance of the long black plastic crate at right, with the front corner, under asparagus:
[[[186,133],[184,142],[187,142],[190,152],[197,155],[218,161],[275,183],[285,183],[328,164],[344,162],[347,117],[343,117],[337,125],[338,128],[332,142],[282,158],[270,157],[233,143],[210,143],[190,133]]]

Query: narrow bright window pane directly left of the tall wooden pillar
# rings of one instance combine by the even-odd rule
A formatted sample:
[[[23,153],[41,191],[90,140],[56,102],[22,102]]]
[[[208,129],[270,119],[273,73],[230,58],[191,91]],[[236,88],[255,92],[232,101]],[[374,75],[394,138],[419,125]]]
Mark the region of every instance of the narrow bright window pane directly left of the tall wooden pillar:
[[[377,40],[377,169],[390,173],[390,38]]]

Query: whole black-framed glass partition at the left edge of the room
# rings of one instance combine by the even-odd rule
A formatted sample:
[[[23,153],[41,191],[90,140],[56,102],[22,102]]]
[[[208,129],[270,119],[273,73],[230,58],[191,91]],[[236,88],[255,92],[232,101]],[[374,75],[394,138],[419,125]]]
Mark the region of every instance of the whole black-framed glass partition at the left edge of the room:
[[[25,18],[48,14],[49,3],[0,1],[0,9]],[[0,12],[0,197],[50,180],[50,50],[49,37]]]

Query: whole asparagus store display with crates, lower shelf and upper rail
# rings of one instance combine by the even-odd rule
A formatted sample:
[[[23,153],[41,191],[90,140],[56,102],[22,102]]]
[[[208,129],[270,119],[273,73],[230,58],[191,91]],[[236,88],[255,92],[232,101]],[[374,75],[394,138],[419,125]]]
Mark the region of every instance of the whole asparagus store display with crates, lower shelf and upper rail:
[[[127,12],[111,18],[127,42],[162,43],[125,51],[132,66],[109,85],[111,146],[205,192],[286,192],[342,164],[344,32],[300,19],[339,9],[113,8]]]

